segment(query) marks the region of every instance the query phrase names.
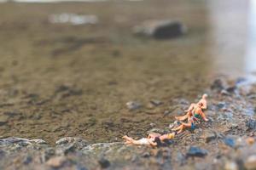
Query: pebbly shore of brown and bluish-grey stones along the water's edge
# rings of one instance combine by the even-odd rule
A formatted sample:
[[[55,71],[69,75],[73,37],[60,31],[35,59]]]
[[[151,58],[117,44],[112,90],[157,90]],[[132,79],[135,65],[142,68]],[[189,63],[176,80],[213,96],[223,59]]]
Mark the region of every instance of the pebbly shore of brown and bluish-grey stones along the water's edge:
[[[209,94],[210,122],[185,131],[161,147],[90,144],[65,137],[54,145],[43,139],[0,139],[1,169],[256,169],[256,86],[244,79],[216,79]],[[179,107],[186,107],[180,100]],[[174,116],[174,115],[173,115]],[[150,132],[164,133],[156,128]],[[146,134],[145,134],[146,135]]]

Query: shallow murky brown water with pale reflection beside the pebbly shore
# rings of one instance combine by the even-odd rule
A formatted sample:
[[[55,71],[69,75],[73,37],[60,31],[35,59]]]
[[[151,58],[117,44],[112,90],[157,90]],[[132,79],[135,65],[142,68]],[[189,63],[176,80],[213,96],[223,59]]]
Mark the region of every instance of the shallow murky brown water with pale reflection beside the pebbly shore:
[[[252,1],[253,2],[253,1]],[[255,6],[241,1],[0,4],[0,135],[53,142],[144,136],[166,127],[176,99],[194,101],[218,74],[256,71]],[[95,15],[96,25],[52,24],[52,14]],[[188,34],[157,41],[131,28],[178,19]],[[151,99],[163,105],[151,108]],[[138,111],[125,103],[137,100]]]

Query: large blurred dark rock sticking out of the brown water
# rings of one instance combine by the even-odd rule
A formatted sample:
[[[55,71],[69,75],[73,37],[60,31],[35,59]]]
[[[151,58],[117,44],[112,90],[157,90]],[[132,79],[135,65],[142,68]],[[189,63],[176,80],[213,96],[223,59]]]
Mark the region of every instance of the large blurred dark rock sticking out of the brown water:
[[[135,26],[133,32],[137,36],[166,39],[182,36],[186,26],[177,20],[148,20],[142,26]]]

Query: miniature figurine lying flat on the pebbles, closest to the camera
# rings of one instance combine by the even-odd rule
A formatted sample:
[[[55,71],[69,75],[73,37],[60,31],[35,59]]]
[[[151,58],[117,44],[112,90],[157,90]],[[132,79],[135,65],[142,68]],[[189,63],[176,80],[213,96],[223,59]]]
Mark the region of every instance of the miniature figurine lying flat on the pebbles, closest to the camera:
[[[148,138],[143,139],[132,139],[131,137],[128,137],[125,135],[123,139],[125,139],[125,144],[137,144],[137,145],[151,145],[151,146],[157,146],[160,145],[161,142],[163,142],[166,139],[174,139],[175,133],[166,133],[163,135],[160,135],[160,133],[150,133],[148,134]]]

